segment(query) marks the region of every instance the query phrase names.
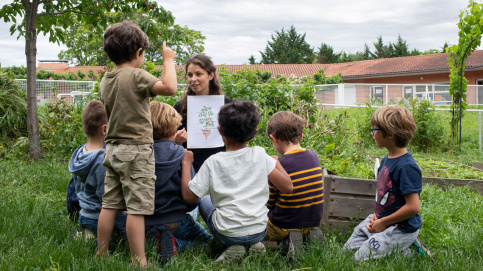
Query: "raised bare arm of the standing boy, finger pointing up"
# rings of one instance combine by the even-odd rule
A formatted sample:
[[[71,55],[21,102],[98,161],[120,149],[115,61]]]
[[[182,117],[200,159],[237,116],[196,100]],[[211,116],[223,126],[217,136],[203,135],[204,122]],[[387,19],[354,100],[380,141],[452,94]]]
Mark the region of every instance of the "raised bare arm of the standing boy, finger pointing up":
[[[176,70],[174,69],[174,58],[176,52],[166,47],[166,41],[163,42],[163,80],[154,83],[151,92],[156,95],[171,96],[176,93],[178,82],[176,79]]]

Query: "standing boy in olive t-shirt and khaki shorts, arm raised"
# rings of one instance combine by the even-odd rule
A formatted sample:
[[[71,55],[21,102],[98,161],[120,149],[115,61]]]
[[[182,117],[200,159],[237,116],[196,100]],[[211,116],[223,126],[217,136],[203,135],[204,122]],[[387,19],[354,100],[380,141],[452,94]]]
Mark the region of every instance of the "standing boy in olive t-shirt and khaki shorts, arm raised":
[[[99,216],[99,254],[107,256],[115,213],[127,209],[126,232],[134,264],[144,267],[144,215],[154,210],[153,127],[150,97],[176,92],[176,52],[163,43],[163,81],[140,69],[149,46],[146,34],[129,21],[104,33],[103,47],[114,62],[104,75],[99,97],[107,112],[105,194]]]

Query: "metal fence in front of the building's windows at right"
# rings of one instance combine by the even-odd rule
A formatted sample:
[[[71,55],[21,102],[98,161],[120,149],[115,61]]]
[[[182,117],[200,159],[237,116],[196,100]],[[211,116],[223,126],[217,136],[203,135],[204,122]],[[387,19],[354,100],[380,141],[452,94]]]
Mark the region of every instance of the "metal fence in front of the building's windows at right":
[[[318,85],[317,99],[333,106],[364,105],[376,100],[384,104],[400,100],[430,100],[435,105],[451,105],[449,84],[333,84]],[[483,104],[483,86],[468,85],[466,101],[470,105]]]

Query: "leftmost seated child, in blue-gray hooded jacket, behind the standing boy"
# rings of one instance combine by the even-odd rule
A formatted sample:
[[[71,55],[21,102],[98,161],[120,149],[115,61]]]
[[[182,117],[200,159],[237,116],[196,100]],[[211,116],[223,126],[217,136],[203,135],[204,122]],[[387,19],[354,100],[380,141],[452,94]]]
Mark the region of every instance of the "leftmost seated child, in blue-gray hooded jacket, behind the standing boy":
[[[107,115],[100,101],[90,101],[82,111],[82,128],[87,135],[87,144],[78,147],[69,162],[69,171],[74,180],[75,192],[79,198],[79,224],[85,237],[94,237],[97,221],[102,209],[104,195],[104,138],[107,130]],[[125,240],[126,215],[118,212],[114,228]]]

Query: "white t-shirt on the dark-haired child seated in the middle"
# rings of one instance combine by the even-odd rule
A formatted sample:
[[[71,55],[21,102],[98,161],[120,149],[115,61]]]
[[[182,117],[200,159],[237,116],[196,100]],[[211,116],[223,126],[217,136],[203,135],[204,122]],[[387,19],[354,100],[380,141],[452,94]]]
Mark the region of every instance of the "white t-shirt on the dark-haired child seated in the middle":
[[[213,225],[228,237],[260,233],[267,227],[268,175],[277,161],[261,147],[210,156],[190,181],[198,197],[208,194],[216,207]]]

